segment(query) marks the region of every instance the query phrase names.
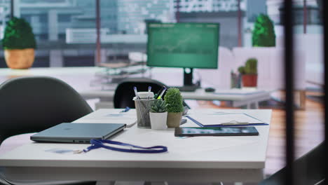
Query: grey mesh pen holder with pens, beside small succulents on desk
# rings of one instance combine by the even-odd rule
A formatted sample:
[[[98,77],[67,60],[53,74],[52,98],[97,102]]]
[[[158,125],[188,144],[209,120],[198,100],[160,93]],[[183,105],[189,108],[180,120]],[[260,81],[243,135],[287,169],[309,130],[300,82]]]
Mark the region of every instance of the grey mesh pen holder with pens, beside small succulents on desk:
[[[154,99],[137,99],[135,101],[135,111],[137,112],[137,126],[138,128],[151,128],[149,110]]]

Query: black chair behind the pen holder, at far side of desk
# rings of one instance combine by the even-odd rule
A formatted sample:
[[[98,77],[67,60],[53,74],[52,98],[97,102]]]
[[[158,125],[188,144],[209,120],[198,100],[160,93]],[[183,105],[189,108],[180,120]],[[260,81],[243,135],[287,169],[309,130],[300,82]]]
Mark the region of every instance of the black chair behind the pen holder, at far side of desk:
[[[151,91],[157,93],[163,85],[165,84],[150,78],[126,78],[116,87],[114,94],[114,108],[135,108],[135,102],[132,100],[133,97],[135,97],[133,87],[137,87],[138,91],[148,91],[148,87],[151,86]],[[165,86],[169,88],[167,85]],[[190,109],[185,102],[183,102],[183,104]]]

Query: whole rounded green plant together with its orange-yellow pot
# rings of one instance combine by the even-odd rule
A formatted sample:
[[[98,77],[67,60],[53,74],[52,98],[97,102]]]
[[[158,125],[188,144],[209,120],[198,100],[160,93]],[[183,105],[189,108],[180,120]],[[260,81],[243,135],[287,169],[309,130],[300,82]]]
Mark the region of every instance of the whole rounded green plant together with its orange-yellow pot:
[[[2,45],[8,67],[11,69],[32,67],[36,41],[29,22],[22,18],[11,18],[6,25]]]

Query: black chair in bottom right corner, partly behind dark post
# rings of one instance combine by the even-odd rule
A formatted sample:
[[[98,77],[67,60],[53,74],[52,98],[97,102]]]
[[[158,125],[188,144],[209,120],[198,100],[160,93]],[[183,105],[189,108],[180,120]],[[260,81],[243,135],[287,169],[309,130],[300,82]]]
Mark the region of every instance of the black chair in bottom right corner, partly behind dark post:
[[[296,177],[296,184],[325,184],[324,179],[324,142],[316,146],[301,158],[295,160],[294,169],[299,172]],[[286,167],[282,168],[275,174],[261,181],[259,185],[280,185],[285,184]]]

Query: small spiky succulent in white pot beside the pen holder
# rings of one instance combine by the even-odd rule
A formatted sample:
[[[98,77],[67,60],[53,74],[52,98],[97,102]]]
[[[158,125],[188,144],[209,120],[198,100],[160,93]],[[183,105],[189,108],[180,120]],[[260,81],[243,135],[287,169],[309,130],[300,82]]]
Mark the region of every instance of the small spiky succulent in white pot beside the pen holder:
[[[151,121],[151,129],[165,130],[168,128],[166,125],[168,111],[166,111],[166,104],[162,99],[158,99],[153,102],[149,112],[149,117]]]

